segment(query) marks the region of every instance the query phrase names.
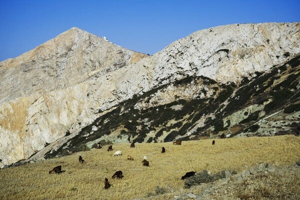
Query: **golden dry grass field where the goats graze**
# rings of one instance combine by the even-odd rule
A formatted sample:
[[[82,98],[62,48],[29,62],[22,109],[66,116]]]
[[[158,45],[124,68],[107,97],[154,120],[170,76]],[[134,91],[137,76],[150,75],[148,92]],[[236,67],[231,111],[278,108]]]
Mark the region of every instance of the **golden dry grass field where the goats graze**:
[[[69,156],[25,164],[0,170],[0,200],[129,200],[154,193],[155,188],[170,186],[183,190],[180,179],[186,172],[202,170],[216,173],[221,170],[241,172],[245,166],[260,162],[274,166],[294,165],[300,160],[300,137],[274,136],[183,141],[172,143],[144,143],[112,145],[113,151],[91,149]],[[161,147],[166,152],[161,154]],[[112,157],[117,151],[121,157]],[[85,163],[78,162],[79,155]],[[134,158],[128,161],[127,155]],[[149,167],[141,164],[147,157]],[[61,174],[48,174],[61,165]],[[111,179],[115,171],[123,172],[123,179]],[[111,187],[105,190],[104,179]],[[173,196],[172,196],[173,197]],[[154,199],[159,199],[155,198]],[[163,199],[171,199],[164,195]]]

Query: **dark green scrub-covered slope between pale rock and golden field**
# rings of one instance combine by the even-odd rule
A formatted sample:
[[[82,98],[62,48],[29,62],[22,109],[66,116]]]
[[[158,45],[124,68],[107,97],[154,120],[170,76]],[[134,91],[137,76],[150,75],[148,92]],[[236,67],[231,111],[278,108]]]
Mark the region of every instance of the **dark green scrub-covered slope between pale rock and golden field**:
[[[299,72],[298,55],[239,85],[205,77],[163,85],[120,103],[45,158],[87,150],[95,143],[104,145],[113,137],[119,142],[149,143],[296,134],[300,132]],[[191,88],[193,96],[188,96]],[[159,95],[174,90],[174,97],[159,103]]]

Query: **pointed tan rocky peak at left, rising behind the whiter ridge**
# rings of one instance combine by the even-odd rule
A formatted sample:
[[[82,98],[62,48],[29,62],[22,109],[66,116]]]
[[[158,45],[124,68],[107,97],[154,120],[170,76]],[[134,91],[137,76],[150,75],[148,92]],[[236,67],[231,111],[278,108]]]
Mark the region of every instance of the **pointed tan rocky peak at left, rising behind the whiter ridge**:
[[[146,56],[71,28],[16,58],[0,62],[0,102],[67,88],[95,73],[105,74]]]

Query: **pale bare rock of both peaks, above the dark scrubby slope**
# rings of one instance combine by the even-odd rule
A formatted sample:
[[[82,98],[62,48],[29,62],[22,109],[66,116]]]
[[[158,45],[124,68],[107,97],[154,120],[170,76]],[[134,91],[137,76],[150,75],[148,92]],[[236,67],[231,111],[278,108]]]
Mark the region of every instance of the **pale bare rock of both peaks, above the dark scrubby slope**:
[[[220,83],[251,79],[299,53],[299,28],[300,23],[218,26],[150,57],[71,28],[0,62],[0,167],[65,140],[66,132],[76,135],[106,110],[162,84],[187,76]],[[160,98],[168,102],[175,93]]]

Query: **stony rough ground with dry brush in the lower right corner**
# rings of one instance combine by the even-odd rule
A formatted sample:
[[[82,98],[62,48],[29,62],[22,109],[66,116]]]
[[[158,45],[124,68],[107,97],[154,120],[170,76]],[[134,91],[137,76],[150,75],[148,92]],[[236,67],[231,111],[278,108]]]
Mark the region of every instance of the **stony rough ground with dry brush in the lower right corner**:
[[[260,163],[247,167],[242,173],[232,175],[225,172],[222,179],[195,184],[188,190],[176,191],[166,186],[157,188],[156,195],[134,200],[297,200],[300,195],[299,186],[299,166],[274,167]]]

